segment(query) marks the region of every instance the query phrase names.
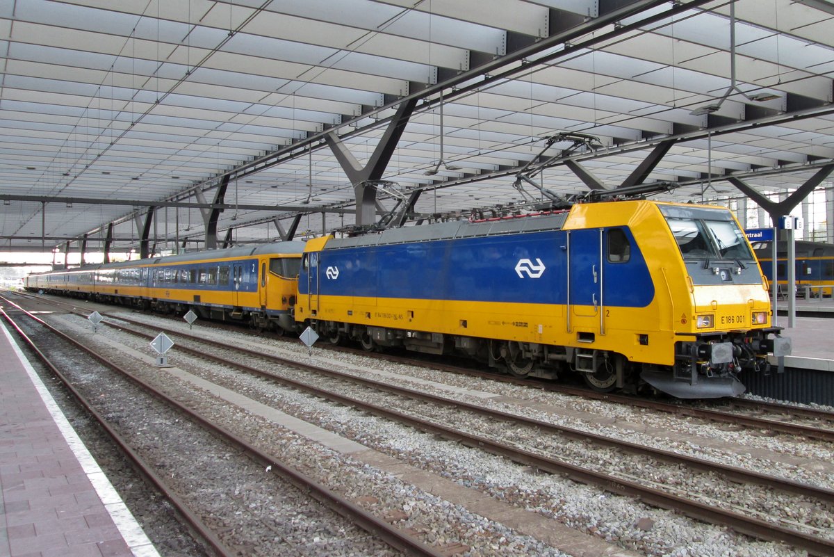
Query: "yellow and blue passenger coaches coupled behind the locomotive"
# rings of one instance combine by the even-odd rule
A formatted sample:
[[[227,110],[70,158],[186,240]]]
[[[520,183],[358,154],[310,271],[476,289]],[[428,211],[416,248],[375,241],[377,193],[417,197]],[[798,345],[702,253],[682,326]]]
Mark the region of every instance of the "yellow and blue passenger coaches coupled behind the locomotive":
[[[303,242],[239,246],[30,274],[26,289],[295,332]]]

